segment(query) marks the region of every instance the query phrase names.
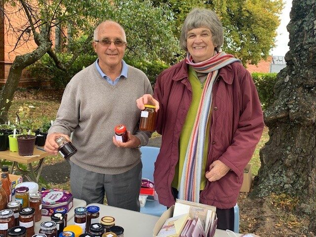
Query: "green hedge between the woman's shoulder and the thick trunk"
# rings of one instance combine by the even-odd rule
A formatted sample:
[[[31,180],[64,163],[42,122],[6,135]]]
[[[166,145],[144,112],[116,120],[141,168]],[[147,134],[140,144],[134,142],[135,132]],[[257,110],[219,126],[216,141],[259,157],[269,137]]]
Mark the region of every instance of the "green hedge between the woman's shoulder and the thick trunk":
[[[263,110],[275,101],[274,86],[276,73],[252,73],[252,79],[256,85]]]

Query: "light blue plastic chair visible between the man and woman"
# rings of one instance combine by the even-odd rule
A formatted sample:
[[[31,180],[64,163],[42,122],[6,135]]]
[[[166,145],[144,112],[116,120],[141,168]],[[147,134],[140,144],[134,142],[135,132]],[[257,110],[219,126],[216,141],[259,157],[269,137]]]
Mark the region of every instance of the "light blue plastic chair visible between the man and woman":
[[[142,178],[154,181],[155,161],[160,149],[157,147],[141,147],[140,151],[142,152],[141,159],[143,163]],[[145,206],[140,208],[140,212],[154,216],[161,216],[166,209],[166,206],[161,205],[158,200],[149,196]]]

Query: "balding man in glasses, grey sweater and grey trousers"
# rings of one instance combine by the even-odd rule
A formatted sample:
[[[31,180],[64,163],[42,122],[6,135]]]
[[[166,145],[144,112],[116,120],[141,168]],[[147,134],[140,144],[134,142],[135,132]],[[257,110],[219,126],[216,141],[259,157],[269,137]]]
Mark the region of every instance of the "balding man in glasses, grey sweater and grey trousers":
[[[64,136],[78,152],[70,158],[74,197],[139,211],[142,162],[138,147],[146,145],[149,132],[138,130],[140,110],[135,100],[152,94],[146,75],[123,60],[126,37],[116,22],[105,21],[94,31],[95,63],[68,83],[45,151],[57,154],[55,140]],[[117,141],[114,128],[124,124],[127,142]]]

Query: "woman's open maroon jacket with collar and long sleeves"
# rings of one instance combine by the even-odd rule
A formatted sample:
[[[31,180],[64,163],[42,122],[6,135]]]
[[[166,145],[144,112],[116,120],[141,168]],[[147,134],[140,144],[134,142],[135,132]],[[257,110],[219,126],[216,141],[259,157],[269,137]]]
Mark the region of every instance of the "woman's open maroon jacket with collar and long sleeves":
[[[218,181],[207,181],[199,201],[228,209],[236,205],[243,169],[260,140],[263,113],[251,76],[238,62],[220,69],[212,93],[206,171],[217,159],[231,170]],[[192,100],[188,66],[184,60],[158,76],[154,97],[160,105],[157,131],[162,134],[155,163],[155,189],[159,202],[171,206],[174,204],[171,182],[179,159],[179,137]]]

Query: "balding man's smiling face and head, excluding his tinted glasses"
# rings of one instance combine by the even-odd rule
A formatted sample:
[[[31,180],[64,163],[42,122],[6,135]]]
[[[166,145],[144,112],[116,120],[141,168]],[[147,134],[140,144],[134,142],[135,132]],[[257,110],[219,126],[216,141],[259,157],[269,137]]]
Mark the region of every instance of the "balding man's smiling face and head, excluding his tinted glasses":
[[[121,60],[124,57],[124,52],[126,48],[126,43],[121,46],[118,46],[114,41],[124,41],[123,32],[121,28],[113,23],[104,23],[99,26],[98,31],[98,42],[93,41],[94,51],[99,57],[99,65],[103,67],[116,67],[121,64]],[[104,45],[103,42],[110,40],[110,45]],[[103,42],[101,42],[103,41]]]

